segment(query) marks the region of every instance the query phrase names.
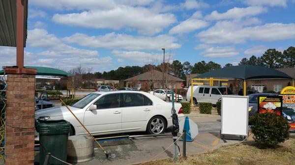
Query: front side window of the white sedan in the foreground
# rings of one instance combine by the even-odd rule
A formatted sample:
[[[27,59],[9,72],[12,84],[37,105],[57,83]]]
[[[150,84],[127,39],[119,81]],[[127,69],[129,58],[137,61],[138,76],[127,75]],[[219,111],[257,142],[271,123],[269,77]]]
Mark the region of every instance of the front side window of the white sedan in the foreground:
[[[120,94],[108,94],[99,98],[94,105],[96,105],[96,109],[118,108],[119,100]]]

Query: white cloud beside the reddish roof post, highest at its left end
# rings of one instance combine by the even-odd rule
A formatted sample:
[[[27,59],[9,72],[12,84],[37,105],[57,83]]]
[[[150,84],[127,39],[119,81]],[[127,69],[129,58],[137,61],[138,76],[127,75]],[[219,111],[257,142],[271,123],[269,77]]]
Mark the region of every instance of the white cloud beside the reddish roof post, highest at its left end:
[[[46,48],[47,50],[39,52],[43,56],[71,56],[71,57],[96,57],[97,51],[79,49],[63,44],[54,34],[49,34],[45,29],[28,30],[27,44],[30,47]]]

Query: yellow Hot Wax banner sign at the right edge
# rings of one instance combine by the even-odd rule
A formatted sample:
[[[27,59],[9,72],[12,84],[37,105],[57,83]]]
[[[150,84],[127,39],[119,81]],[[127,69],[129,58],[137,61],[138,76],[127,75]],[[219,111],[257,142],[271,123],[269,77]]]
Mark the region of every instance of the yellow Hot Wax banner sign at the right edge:
[[[283,98],[282,115],[288,120],[290,129],[295,131],[295,87],[285,87],[280,96]]]

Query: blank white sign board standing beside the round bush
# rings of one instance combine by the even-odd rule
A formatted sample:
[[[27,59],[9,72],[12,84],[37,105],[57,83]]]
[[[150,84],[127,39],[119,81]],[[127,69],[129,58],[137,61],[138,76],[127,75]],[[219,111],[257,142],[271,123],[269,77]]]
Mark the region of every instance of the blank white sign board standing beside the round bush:
[[[221,135],[248,136],[248,102],[248,96],[222,96]]]

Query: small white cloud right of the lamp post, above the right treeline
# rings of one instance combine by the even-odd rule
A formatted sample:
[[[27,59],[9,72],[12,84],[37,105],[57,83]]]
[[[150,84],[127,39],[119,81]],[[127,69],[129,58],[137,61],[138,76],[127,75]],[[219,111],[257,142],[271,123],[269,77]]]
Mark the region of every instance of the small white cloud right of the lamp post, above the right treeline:
[[[209,45],[198,45],[195,48],[203,49],[203,52],[201,54],[204,55],[204,57],[209,58],[232,57],[239,54],[235,47],[214,47]]]

